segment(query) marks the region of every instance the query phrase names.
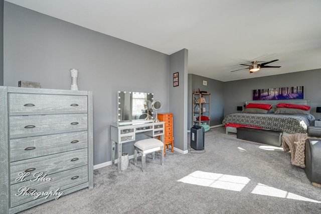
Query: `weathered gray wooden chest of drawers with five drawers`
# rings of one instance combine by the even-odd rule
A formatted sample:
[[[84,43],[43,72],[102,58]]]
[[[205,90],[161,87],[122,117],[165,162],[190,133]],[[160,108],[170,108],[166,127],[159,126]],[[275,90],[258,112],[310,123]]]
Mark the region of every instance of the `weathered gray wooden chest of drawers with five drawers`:
[[[0,86],[0,213],[93,188],[91,91]]]

